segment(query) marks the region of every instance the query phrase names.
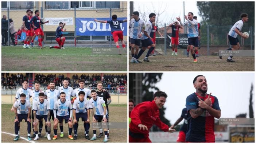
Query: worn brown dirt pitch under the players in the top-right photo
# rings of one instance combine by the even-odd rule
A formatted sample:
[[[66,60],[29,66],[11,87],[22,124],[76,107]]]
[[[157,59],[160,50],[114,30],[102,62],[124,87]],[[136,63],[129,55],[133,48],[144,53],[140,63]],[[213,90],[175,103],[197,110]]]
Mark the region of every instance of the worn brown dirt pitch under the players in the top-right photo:
[[[150,62],[143,62],[145,56],[141,56],[142,63],[130,63],[129,71],[254,71],[255,57],[233,57],[236,62],[227,62],[228,57],[201,56],[194,63],[192,56],[185,55],[156,55],[149,57]]]

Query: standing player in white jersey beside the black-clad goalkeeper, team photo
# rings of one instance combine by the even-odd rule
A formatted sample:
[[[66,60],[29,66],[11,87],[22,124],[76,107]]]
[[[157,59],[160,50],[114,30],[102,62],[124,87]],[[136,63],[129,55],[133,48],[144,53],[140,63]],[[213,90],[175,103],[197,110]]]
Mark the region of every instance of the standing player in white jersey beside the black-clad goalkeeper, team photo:
[[[88,95],[91,95],[91,90],[89,90],[89,89],[86,89],[85,87],[84,87],[84,85],[85,85],[85,81],[83,80],[83,79],[80,79],[79,81],[78,81],[78,83],[79,83],[79,88],[77,88],[77,89],[75,89],[73,92],[72,92],[72,96],[76,96],[77,98],[79,98],[79,92],[81,92],[81,91],[83,91],[83,92],[85,92],[85,94],[84,94],[84,98],[85,99],[88,99],[88,101],[90,100],[90,96],[88,96]],[[74,109],[74,108],[73,108]],[[86,109],[86,107],[85,107],[85,109]],[[89,109],[88,109],[89,110]],[[86,110],[85,110],[85,113],[86,113]],[[73,113],[74,114],[74,113]],[[79,119],[79,118],[78,118]],[[83,121],[83,120],[82,120]],[[86,120],[87,121],[87,120]],[[84,121],[84,128],[85,128],[85,138],[86,139],[90,139],[90,137],[89,137],[89,130],[90,130],[90,124],[88,123],[88,122],[86,122],[86,121]],[[77,122],[77,127],[78,127],[78,122]],[[74,126],[74,131],[75,131],[75,126]],[[74,139],[75,139],[75,137],[74,137]]]

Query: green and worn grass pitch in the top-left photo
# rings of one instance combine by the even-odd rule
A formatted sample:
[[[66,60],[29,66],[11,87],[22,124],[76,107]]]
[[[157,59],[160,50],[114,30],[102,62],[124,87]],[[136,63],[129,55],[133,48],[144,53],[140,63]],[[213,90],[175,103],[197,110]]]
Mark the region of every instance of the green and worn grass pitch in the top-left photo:
[[[127,55],[92,55],[92,48],[2,47],[2,71],[127,71]]]

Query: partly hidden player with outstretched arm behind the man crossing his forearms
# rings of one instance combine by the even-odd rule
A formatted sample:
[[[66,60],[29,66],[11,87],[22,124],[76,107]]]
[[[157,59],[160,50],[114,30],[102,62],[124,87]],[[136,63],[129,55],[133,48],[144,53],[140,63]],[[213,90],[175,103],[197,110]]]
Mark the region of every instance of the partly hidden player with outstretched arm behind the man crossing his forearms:
[[[177,143],[185,143],[186,142],[186,132],[187,132],[187,109],[182,109],[181,117],[172,125],[170,128],[173,129],[176,125],[178,125],[184,118],[183,125],[179,131],[179,136],[177,138]]]

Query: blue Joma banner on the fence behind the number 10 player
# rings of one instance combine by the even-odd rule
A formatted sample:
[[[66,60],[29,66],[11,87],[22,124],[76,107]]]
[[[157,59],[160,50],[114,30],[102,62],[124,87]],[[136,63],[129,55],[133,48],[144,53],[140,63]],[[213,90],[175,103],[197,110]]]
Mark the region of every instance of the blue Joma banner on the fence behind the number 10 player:
[[[112,18],[96,18],[97,20],[112,20]],[[125,20],[127,17],[117,17],[119,20]],[[93,21],[94,18],[77,18],[76,33],[79,36],[112,36],[111,28],[108,23],[100,23]],[[120,24],[123,35],[127,35],[127,22]]]

